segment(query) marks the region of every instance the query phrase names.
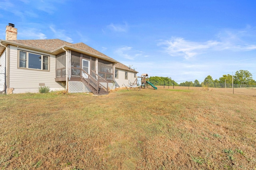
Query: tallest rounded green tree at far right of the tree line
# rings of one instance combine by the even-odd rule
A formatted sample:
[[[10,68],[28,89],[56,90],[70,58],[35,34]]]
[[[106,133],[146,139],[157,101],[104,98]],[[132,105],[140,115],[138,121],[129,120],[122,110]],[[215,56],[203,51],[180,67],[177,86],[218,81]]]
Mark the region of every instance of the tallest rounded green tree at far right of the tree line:
[[[252,74],[247,70],[236,71],[234,75],[234,84],[254,84]]]

